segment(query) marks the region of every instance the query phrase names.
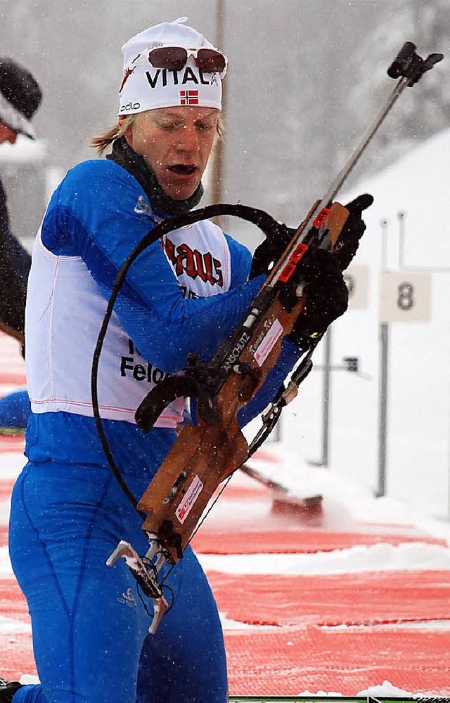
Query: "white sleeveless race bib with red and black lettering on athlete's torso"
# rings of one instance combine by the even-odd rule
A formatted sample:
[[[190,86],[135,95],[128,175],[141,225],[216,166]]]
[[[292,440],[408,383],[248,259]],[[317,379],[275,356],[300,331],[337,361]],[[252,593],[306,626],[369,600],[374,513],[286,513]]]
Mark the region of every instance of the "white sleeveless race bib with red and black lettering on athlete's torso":
[[[230,289],[230,250],[223,232],[211,222],[171,232],[161,246],[185,298]],[[27,384],[34,413],[92,417],[92,357],[106,305],[85,262],[50,252],[39,231],[25,311]],[[135,423],[137,406],[163,378],[165,373],[137,352],[113,313],[99,361],[101,417]],[[184,399],[170,404],[156,426],[175,427],[184,408]]]

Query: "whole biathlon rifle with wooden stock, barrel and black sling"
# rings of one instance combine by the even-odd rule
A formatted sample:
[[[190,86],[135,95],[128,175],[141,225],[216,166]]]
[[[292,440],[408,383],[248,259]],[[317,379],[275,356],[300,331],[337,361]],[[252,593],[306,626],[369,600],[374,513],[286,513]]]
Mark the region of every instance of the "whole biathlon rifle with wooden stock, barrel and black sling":
[[[387,113],[407,86],[442,60],[442,54],[433,53],[427,59],[415,53],[415,44],[406,42],[387,71],[396,79],[392,93],[356,150],[337,174],[327,193],[317,200],[310,212],[290,238],[278,262],[273,266],[251,307],[228,340],[220,344],[213,359],[201,363],[190,354],[183,375],[166,378],[151,390],[137,408],[135,419],[143,432],[149,432],[163,409],[180,396],[190,396],[197,401],[197,423],[186,423],[163,464],[156,472],[144,495],[133,505],[144,519],[142,529],[149,540],[149,550],[140,557],[132,546],[120,541],[106,562],[109,566],[123,557],[142,591],[153,600],[154,618],[149,628],[156,631],[168,603],[163,595],[163,583],[158,581],[161,567],[168,562],[175,565],[191,541],[201,516],[218,486],[242,467],[254,451],[261,446],[275,426],[282,407],[296,394],[296,389],[312,368],[311,356],[322,335],[311,340],[308,352],[284,386],[275,396],[263,415],[263,427],[250,444],[247,443],[237,421],[237,413],[263,385],[269,371],[275,366],[282,349],[282,340],[292,332],[301,315],[306,298],[297,297],[296,289],[301,280],[301,259],[311,247],[330,251],[339,250],[344,243],[339,238],[348,217],[348,210],[335,202],[351,170],[360,159]],[[194,221],[218,214],[235,214],[254,221],[266,236],[286,236],[287,228],[273,220],[267,213],[242,205],[214,205],[191,212],[186,216],[165,221],[154,228],[132,252],[116,279],[115,290],[108,304],[108,311],[99,335],[99,345],[94,354],[92,403],[94,417],[98,415],[96,397],[96,363],[99,349],[108,324],[118,286],[137,255],[164,233]],[[98,352],[98,353],[97,353]],[[111,453],[101,433],[99,434],[108,460]],[[111,460],[110,460],[111,464]],[[122,480],[118,477],[118,480]],[[125,489],[124,489],[125,490]],[[129,494],[129,491],[128,491]]]

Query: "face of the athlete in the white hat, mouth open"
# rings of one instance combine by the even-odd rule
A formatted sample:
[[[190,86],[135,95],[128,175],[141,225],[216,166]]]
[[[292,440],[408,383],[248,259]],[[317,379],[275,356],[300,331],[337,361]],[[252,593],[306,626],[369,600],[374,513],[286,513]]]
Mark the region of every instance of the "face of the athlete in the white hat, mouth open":
[[[147,110],[139,112],[125,137],[154,171],[163,191],[173,200],[185,200],[206,169],[218,117],[214,108]]]

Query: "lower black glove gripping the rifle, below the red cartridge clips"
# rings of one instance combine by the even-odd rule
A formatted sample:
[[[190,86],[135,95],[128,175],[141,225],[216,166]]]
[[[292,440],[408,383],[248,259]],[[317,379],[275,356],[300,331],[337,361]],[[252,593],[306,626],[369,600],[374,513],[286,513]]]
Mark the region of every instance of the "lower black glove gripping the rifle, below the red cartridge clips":
[[[311,340],[323,336],[328,325],[346,311],[349,290],[335,254],[323,249],[308,250],[301,259],[298,276],[304,281],[304,311],[299,315],[289,338],[306,350]]]

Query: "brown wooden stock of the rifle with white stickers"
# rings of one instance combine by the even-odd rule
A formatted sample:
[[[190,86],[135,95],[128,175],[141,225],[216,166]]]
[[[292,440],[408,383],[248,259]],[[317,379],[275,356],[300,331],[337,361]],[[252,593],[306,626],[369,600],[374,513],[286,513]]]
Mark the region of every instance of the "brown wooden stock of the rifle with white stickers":
[[[311,212],[317,205],[315,203]],[[299,240],[302,244],[311,243],[320,230],[322,233],[327,231],[330,232],[330,243],[326,248],[332,249],[347,215],[348,211],[342,205],[333,203],[324,214],[323,224],[314,233],[303,236],[302,223],[263,288],[274,285],[284,271],[289,271],[289,257],[292,258]],[[298,279],[295,280],[290,283],[288,279],[284,285],[296,288]],[[200,416],[197,425],[187,423],[182,427],[173,448],[140,499],[139,510],[148,513],[142,529],[158,538],[173,563],[182,557],[182,551],[219,484],[248,458],[249,445],[240,430],[237,413],[256,394],[275,366],[282,340],[292,331],[305,302],[306,297],[300,297],[292,310],[287,311],[280,296],[275,295],[249,332],[234,368],[230,368],[213,399],[217,413],[215,423],[208,424]],[[245,368],[246,373],[240,372],[239,368]]]

